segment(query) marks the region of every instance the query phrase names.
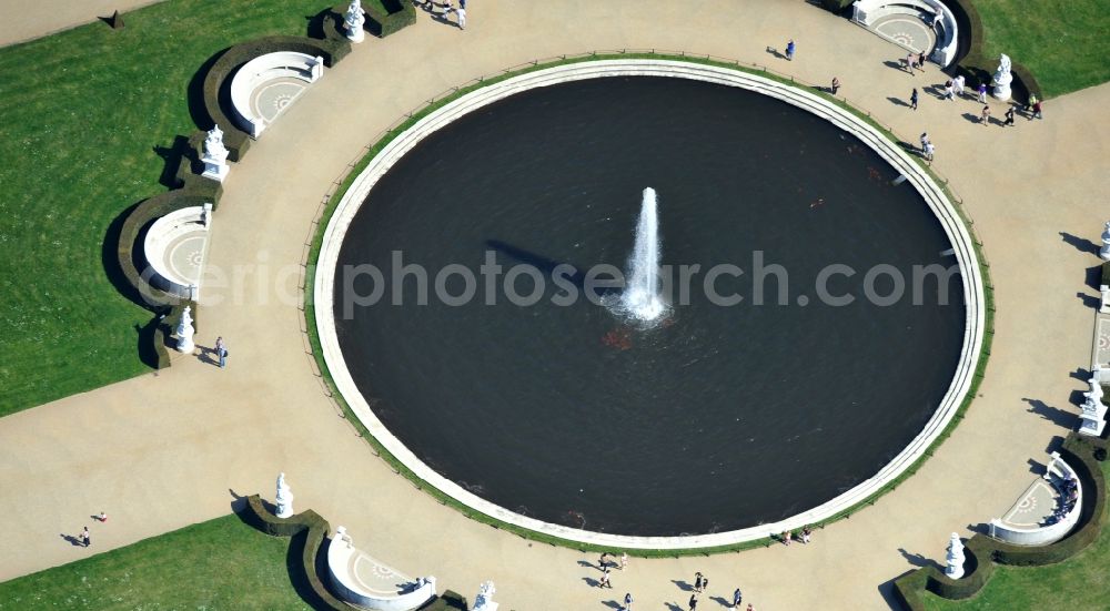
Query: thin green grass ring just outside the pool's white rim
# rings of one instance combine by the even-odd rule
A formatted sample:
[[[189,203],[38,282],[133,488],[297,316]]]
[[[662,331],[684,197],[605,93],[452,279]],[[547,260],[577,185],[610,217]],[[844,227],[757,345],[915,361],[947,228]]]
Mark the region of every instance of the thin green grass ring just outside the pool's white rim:
[[[466,516],[467,518],[471,518],[471,519],[473,519],[473,520],[475,520],[477,522],[485,523],[487,526],[491,526],[491,527],[500,529],[500,530],[505,530],[507,532],[516,534],[516,536],[518,536],[518,537],[521,537],[523,539],[526,539],[526,540],[538,541],[538,542],[542,542],[542,543],[547,543],[547,544],[551,544],[551,546],[564,547],[564,548],[568,548],[568,549],[575,549],[575,550],[578,550],[578,551],[582,551],[582,552],[602,552],[602,551],[614,551],[614,550],[610,547],[602,547],[602,546],[596,546],[596,544],[583,543],[583,542],[579,542],[579,541],[572,541],[572,540],[568,540],[568,539],[562,539],[562,538],[558,538],[558,537],[553,537],[553,536],[548,536],[548,534],[542,534],[542,533],[538,533],[538,532],[535,532],[535,531],[532,531],[532,530],[527,530],[527,529],[524,529],[524,528],[521,528],[521,527],[517,527],[517,526],[514,526],[514,525],[509,525],[507,522],[503,522],[503,521],[497,520],[495,518],[491,518],[491,517],[486,516],[485,513],[478,512],[478,511],[476,511],[476,510],[474,510],[474,509],[472,509],[472,508],[463,505],[462,502],[455,500],[454,498],[450,497],[448,495],[443,493],[441,490],[436,489],[435,487],[430,486],[426,481],[422,480],[420,477],[417,477],[415,473],[413,473],[403,462],[401,462],[394,456],[392,456],[384,447],[382,447],[381,444],[379,444],[377,440],[374,439],[374,436],[370,435],[370,432],[366,430],[366,428],[362,425],[362,422],[359,420],[359,418],[351,410],[351,407],[343,399],[342,394],[339,391],[339,389],[336,388],[334,381],[331,378],[331,374],[329,373],[329,369],[327,369],[327,364],[324,363],[323,353],[321,350],[320,337],[316,334],[315,304],[312,302],[312,295],[313,295],[313,283],[315,282],[315,261],[316,261],[316,257],[319,256],[321,241],[323,240],[323,235],[324,235],[324,232],[326,231],[327,223],[329,223],[329,221],[331,218],[332,213],[335,211],[335,207],[339,205],[339,202],[343,198],[344,193],[346,193],[347,189],[351,187],[351,184],[359,176],[359,174],[366,167],[366,165],[371,162],[371,160],[379,152],[381,152],[390,142],[392,142],[394,139],[396,139],[402,133],[404,133],[405,130],[407,130],[408,128],[411,128],[412,125],[414,125],[416,122],[418,122],[420,120],[422,120],[424,116],[426,116],[426,115],[431,114],[432,112],[436,111],[437,109],[440,109],[444,104],[447,104],[447,103],[450,103],[450,102],[452,102],[452,101],[454,101],[454,100],[456,100],[456,99],[458,99],[458,98],[461,98],[461,96],[463,96],[463,95],[465,95],[465,94],[467,94],[467,93],[470,93],[470,92],[472,92],[472,91],[474,91],[474,90],[476,90],[478,88],[482,88],[482,86],[485,86],[485,85],[488,85],[488,84],[492,84],[492,83],[496,83],[496,82],[505,80],[505,79],[511,79],[511,78],[517,77],[519,74],[525,74],[527,72],[534,72],[534,71],[537,71],[537,70],[544,70],[544,69],[551,68],[553,65],[559,65],[559,64],[564,64],[564,63],[576,63],[576,62],[585,62],[585,61],[594,61],[594,60],[623,59],[623,58],[665,59],[665,60],[674,60],[674,61],[687,61],[687,62],[694,62],[694,63],[703,63],[703,64],[715,65],[715,67],[719,67],[719,68],[728,68],[728,69],[733,69],[733,70],[738,70],[738,71],[741,71],[741,72],[748,72],[748,73],[751,73],[751,74],[758,74],[760,77],[764,77],[764,78],[767,78],[767,79],[773,79],[773,80],[779,81],[781,83],[787,83],[787,84],[791,84],[791,85],[795,85],[795,86],[801,86],[803,84],[805,84],[805,83],[798,82],[793,77],[783,77],[780,74],[777,74],[777,73],[768,71],[766,68],[760,68],[757,64],[751,64],[751,67],[749,68],[747,65],[741,65],[737,61],[723,61],[722,59],[710,58],[709,55],[702,55],[702,57],[699,57],[699,55],[689,55],[689,54],[685,54],[685,53],[676,54],[676,53],[668,53],[668,52],[656,52],[655,50],[650,50],[650,51],[628,51],[628,50],[622,50],[622,51],[610,51],[610,52],[597,52],[597,51],[594,51],[594,52],[583,53],[581,55],[575,55],[575,57],[561,55],[561,57],[555,58],[555,59],[553,59],[551,61],[536,60],[536,61],[533,61],[533,62],[528,62],[527,64],[524,64],[525,65],[524,68],[508,69],[508,70],[505,70],[504,72],[501,72],[501,73],[498,73],[496,75],[493,75],[493,77],[478,78],[474,82],[471,82],[471,83],[468,83],[468,84],[466,84],[464,86],[454,88],[450,94],[446,94],[446,95],[444,95],[441,99],[433,100],[431,103],[428,103],[427,105],[425,105],[424,108],[422,108],[422,109],[420,109],[417,111],[414,111],[412,113],[406,113],[406,115],[405,115],[406,119],[403,122],[401,122],[401,123],[396,124],[394,128],[387,130],[379,139],[377,142],[375,142],[372,146],[370,146],[366,150],[366,154],[357,163],[355,163],[353,166],[351,166],[349,169],[345,177],[343,177],[342,181],[340,181],[339,187],[332,193],[331,197],[327,201],[327,204],[325,205],[323,212],[320,215],[320,218],[316,221],[316,235],[313,237],[312,246],[311,246],[311,248],[309,251],[309,254],[307,254],[307,257],[305,259],[307,263],[306,263],[306,271],[305,271],[305,276],[304,276],[304,285],[302,286],[302,289],[303,289],[304,295],[305,295],[305,304],[304,304],[305,327],[307,329],[306,333],[307,333],[307,336],[309,336],[309,344],[310,344],[310,347],[311,347],[311,350],[312,350],[312,355],[313,355],[313,358],[315,359],[316,367],[320,370],[320,377],[322,378],[323,384],[326,386],[327,394],[340,406],[340,408],[343,410],[344,417],[347,419],[347,421],[351,422],[351,425],[355,428],[355,430],[359,432],[359,435],[363,439],[365,439],[366,442],[369,442],[371,445],[371,447],[374,450],[374,454],[376,454],[387,465],[390,465],[390,467],[394,470],[394,472],[396,472],[396,473],[398,473],[401,476],[404,476],[406,479],[408,479],[413,483],[413,486],[416,487],[417,490],[424,490],[424,491],[426,491],[434,499],[436,499],[437,501],[440,501],[441,505],[444,505],[444,506],[447,506],[447,507],[452,507],[456,511],[458,511],[460,513],[462,513],[463,516]],[[867,112],[864,112],[864,111],[860,111],[860,110],[856,109],[855,106],[848,104],[847,101],[845,101],[844,99],[836,98],[836,96],[833,96],[833,95],[828,95],[825,92],[825,88],[823,88],[823,86],[818,88],[816,85],[811,85],[810,84],[809,88],[811,90],[816,90],[816,91],[820,92],[821,95],[827,96],[827,99],[829,99],[833,103],[835,103],[838,106],[845,109],[846,111],[852,113],[854,115],[856,115],[860,120],[867,122],[869,125],[874,126],[876,130],[878,130],[885,138],[887,138],[891,142],[902,142],[902,140],[900,138],[898,138],[897,135],[895,135],[890,131],[889,128],[887,128],[887,126],[878,123],[875,119],[872,119],[871,115],[870,115],[870,113],[867,113]],[[932,171],[931,166],[927,162],[925,162],[919,156],[911,156],[911,159],[914,159],[918,164],[920,164],[922,171],[926,172],[927,174],[929,174],[929,176],[931,176],[934,179],[934,181],[938,185],[940,185],[941,190],[945,191],[945,194],[949,198],[949,201],[951,201],[953,204],[960,201],[958,197],[953,196],[953,194],[948,189],[948,186],[947,186],[948,185],[948,181],[940,179]],[[987,369],[987,361],[988,361],[988,359],[990,357],[990,346],[991,346],[991,343],[992,343],[992,339],[993,339],[993,335],[995,335],[995,318],[993,318],[993,313],[995,313],[995,289],[993,289],[992,283],[990,282],[990,266],[987,263],[987,258],[983,256],[983,253],[982,253],[982,243],[976,236],[973,223],[967,216],[966,211],[963,211],[960,205],[956,205],[955,208],[961,215],[961,217],[962,217],[962,220],[965,222],[965,226],[967,227],[968,233],[971,235],[971,240],[972,240],[972,243],[973,243],[973,246],[975,246],[975,250],[976,250],[976,256],[979,259],[979,267],[980,267],[980,271],[982,273],[982,278],[983,278],[983,296],[985,296],[985,309],[986,309],[983,340],[982,340],[982,348],[981,348],[981,350],[979,353],[979,361],[976,365],[975,375],[972,376],[972,379],[971,379],[971,385],[968,388],[967,395],[963,397],[962,404],[960,405],[959,409],[957,409],[956,415],[948,422],[948,426],[945,428],[944,431],[941,431],[941,434],[937,437],[937,439],[932,442],[932,445],[922,454],[922,456],[920,458],[918,458],[918,460],[916,462],[914,462],[909,468],[907,468],[905,471],[902,471],[902,473],[899,475],[897,478],[895,478],[889,483],[887,483],[887,486],[885,486],[882,489],[880,489],[877,492],[875,492],[870,498],[861,500],[856,506],[850,507],[850,508],[848,508],[848,509],[846,509],[846,510],[844,510],[844,511],[841,511],[841,512],[839,512],[839,513],[837,513],[835,516],[831,516],[831,517],[829,517],[828,519],[826,519],[826,520],[824,520],[821,522],[813,525],[815,528],[824,529],[826,526],[828,526],[830,523],[834,523],[834,522],[837,522],[837,521],[839,521],[841,519],[851,517],[852,513],[855,513],[855,512],[864,509],[865,507],[869,507],[869,506],[875,505],[875,501],[879,497],[881,497],[882,495],[886,495],[887,492],[889,492],[891,490],[897,489],[898,486],[900,486],[902,481],[905,481],[906,479],[908,479],[909,477],[911,477],[914,473],[916,473],[917,470],[921,468],[921,465],[924,465],[925,461],[929,457],[932,456],[934,451],[936,451],[936,449],[939,448],[940,445],[944,444],[946,439],[948,439],[948,437],[951,435],[952,430],[955,430],[956,426],[960,422],[960,420],[963,419],[963,414],[967,411],[967,409],[971,405],[971,401],[973,400],[973,398],[976,397],[976,395],[978,393],[979,385],[981,384],[982,377],[983,377],[983,375],[986,373],[986,369]],[[635,557],[640,557],[640,558],[678,558],[680,556],[708,556],[708,554],[713,554],[713,553],[738,552],[738,551],[743,551],[743,550],[747,550],[747,549],[754,549],[754,548],[759,548],[759,547],[766,548],[766,547],[770,547],[771,544],[776,543],[776,541],[777,540],[774,539],[774,538],[767,538],[767,539],[761,539],[761,540],[747,541],[747,542],[744,542],[744,543],[736,543],[736,544],[731,544],[731,546],[719,546],[719,547],[713,547],[713,548],[688,548],[688,549],[680,549],[680,550],[628,549],[628,550],[617,550],[617,551],[625,551],[629,556],[635,556]]]

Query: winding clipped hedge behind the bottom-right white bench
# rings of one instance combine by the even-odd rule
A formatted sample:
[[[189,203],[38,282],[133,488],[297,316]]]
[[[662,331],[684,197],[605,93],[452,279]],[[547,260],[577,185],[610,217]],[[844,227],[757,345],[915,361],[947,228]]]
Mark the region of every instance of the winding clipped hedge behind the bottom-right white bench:
[[[1084,492],[1079,525],[1063,539],[1049,546],[1013,546],[997,541],[986,534],[976,534],[967,541],[968,572],[962,579],[952,580],[937,567],[910,571],[895,580],[895,598],[910,611],[924,611],[921,593],[926,590],[949,600],[970,598],[983,588],[995,572],[995,564],[1035,567],[1054,564],[1071,558],[1090,546],[1102,531],[1106,513],[1107,485],[1102,469],[1094,458],[1096,450],[1106,448],[1102,440],[1072,432],[1063,442],[1060,456],[1076,470]]]

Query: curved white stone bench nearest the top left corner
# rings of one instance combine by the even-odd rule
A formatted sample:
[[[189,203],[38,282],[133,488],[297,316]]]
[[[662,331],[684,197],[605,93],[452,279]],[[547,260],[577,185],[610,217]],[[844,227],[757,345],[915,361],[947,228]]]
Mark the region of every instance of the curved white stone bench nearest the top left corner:
[[[314,83],[323,73],[324,59],[322,57],[312,57],[296,51],[266,53],[244,63],[231,80],[231,105],[235,112],[235,122],[251,134],[251,138],[259,138],[269,123],[265,118],[255,114],[252,110],[251,93],[262,84],[275,79],[292,78]],[[281,112],[274,119],[280,115]]]

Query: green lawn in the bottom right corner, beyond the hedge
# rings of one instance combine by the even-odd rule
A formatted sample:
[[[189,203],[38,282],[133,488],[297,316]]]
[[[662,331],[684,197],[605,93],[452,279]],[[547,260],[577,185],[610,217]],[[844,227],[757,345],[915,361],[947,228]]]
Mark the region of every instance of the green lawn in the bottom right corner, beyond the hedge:
[[[1110,461],[1102,462],[1102,475],[1110,480]],[[921,595],[930,611],[1023,611],[1041,609],[1110,610],[1110,528],[1074,557],[1047,567],[998,566],[980,592],[965,601],[949,601],[931,592]]]

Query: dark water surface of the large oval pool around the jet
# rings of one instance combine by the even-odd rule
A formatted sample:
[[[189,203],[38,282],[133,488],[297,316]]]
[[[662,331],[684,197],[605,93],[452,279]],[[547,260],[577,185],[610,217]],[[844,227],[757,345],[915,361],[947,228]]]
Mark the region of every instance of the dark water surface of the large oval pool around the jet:
[[[956,264],[939,222],[896,172],[829,123],[746,91],[679,79],[598,79],[517,94],[425,140],[371,192],[340,255],[336,318],[374,411],[432,468],[542,520],[622,534],[705,533],[810,509],[875,475],[945,395],[962,342],[960,277],[914,305],[915,265]],[[585,298],[485,305],[486,251],[545,275],[619,268],[640,193],[658,192],[663,263],[699,264],[689,305],[643,330]],[[391,293],[392,252],[428,269]],[[788,273],[756,281],[754,252]],[[382,303],[343,316],[344,265],[384,271]],[[712,304],[702,286],[738,294]],[[433,279],[478,279],[463,306]],[[835,307],[817,297],[830,264]],[[864,276],[895,266],[907,295],[878,306]],[[581,278],[574,277],[579,281]],[[518,278],[529,294],[534,281]],[[755,284],[765,304],[755,305]],[[894,283],[882,276],[882,295]],[[369,275],[353,283],[360,294]],[[446,283],[463,292],[456,275]],[[797,305],[799,296],[808,305]],[[392,298],[403,306],[391,305]]]

